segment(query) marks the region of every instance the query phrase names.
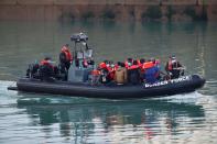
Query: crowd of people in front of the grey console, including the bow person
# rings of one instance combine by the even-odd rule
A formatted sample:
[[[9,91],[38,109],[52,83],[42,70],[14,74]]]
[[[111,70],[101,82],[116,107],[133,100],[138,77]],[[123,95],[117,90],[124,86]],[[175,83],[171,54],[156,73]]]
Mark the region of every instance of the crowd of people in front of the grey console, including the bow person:
[[[101,84],[115,81],[117,85],[140,85],[142,82],[154,84],[162,79],[174,79],[184,75],[184,68],[175,56],[170,57],[165,70],[166,74],[161,71],[159,59],[128,58],[124,63],[118,62],[116,64],[104,60],[94,70],[93,76]]]

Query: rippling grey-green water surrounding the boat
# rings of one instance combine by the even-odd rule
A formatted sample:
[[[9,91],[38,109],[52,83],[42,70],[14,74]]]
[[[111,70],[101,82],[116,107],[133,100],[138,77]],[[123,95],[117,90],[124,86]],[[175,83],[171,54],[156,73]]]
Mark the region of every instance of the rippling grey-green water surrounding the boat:
[[[165,98],[106,100],[9,91],[28,65],[58,63],[84,32],[96,63],[176,55],[204,88]],[[216,144],[217,23],[0,21],[0,144]]]

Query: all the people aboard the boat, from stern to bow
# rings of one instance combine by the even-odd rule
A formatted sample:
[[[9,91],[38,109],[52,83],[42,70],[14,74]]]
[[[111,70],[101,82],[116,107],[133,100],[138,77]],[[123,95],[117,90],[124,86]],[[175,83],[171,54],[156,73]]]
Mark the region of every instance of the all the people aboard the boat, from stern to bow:
[[[69,51],[68,44],[63,45],[59,53],[59,64],[55,66],[50,57],[45,57],[40,64],[30,65],[26,76],[41,80],[64,80],[67,81],[68,69],[75,63],[77,67],[93,69],[88,74],[88,79],[93,85],[140,85],[142,82],[154,84],[162,79],[174,79],[184,75],[184,67],[175,56],[170,56],[165,65],[165,71],[161,71],[159,59],[150,58],[145,60],[128,58],[124,63],[104,60],[97,67],[93,59],[75,58]]]

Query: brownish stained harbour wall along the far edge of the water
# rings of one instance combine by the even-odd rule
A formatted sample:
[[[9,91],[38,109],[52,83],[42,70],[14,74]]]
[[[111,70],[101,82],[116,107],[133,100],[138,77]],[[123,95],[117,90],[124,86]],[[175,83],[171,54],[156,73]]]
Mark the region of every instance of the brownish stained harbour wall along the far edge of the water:
[[[0,20],[217,21],[217,0],[0,0]]]

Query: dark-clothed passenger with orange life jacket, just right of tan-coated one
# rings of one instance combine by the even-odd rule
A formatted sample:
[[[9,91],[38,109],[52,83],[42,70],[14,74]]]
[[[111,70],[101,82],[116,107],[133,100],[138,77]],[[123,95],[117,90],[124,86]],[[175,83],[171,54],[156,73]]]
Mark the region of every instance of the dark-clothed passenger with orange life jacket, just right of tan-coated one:
[[[141,71],[137,60],[133,60],[132,66],[128,67],[128,81],[132,85],[141,82]]]

